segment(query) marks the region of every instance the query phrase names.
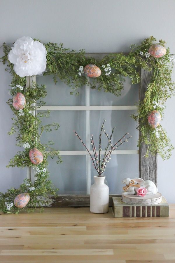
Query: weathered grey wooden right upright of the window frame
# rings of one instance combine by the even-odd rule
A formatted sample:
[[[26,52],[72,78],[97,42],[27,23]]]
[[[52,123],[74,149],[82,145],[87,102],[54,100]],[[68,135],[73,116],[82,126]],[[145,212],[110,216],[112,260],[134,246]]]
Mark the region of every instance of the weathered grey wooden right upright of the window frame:
[[[153,71],[146,71],[142,68],[140,71],[140,83],[139,83],[139,99],[143,101],[145,98],[145,92],[147,91],[148,84],[153,75]],[[141,134],[140,134],[141,135]],[[145,158],[148,145],[142,143],[139,149],[139,171],[140,178],[143,180],[151,180],[157,186],[157,154],[155,156],[149,155]]]

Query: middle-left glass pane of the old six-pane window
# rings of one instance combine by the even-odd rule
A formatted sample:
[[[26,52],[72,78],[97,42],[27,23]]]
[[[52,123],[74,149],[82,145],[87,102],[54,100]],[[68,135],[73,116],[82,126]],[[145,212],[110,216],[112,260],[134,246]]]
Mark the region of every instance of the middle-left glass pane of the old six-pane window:
[[[43,132],[41,143],[55,142],[54,148],[60,151],[85,150],[81,141],[76,137],[74,130],[78,132],[83,141],[86,141],[85,111],[53,110],[50,118],[43,117],[42,125],[58,122],[60,128],[57,131]]]

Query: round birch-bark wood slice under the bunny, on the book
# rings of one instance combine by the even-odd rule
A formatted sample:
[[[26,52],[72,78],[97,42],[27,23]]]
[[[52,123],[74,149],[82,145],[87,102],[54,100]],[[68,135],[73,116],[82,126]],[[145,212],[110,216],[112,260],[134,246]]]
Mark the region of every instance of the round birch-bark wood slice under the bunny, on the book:
[[[162,202],[162,195],[161,193],[145,195],[144,197],[138,195],[122,195],[122,202],[130,205],[157,205]]]

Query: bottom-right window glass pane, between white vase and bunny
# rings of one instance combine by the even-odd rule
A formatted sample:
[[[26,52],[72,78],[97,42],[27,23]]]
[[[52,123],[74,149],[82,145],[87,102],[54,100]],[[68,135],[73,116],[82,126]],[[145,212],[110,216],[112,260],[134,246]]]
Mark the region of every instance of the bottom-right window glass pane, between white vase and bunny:
[[[139,155],[111,155],[110,162],[106,165],[103,173],[109,186],[109,194],[122,193],[122,180],[126,177],[133,179],[139,177]],[[94,183],[93,177],[97,175],[95,168],[91,162],[91,185]],[[106,182],[105,182],[106,183]]]

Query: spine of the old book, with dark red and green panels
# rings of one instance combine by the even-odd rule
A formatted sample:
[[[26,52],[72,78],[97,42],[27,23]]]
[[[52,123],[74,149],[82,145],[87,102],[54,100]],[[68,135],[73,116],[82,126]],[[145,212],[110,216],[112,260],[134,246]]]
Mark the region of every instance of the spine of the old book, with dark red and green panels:
[[[115,217],[169,217],[169,206],[116,206]]]

